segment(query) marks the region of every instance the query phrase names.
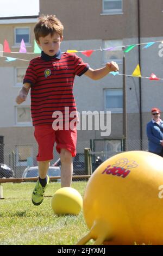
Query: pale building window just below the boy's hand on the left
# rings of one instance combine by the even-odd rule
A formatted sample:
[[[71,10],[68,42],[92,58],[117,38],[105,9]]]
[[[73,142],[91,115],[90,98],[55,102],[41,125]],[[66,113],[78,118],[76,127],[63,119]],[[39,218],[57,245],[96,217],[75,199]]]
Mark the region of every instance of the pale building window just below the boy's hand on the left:
[[[30,115],[30,107],[27,106],[16,106],[16,125],[28,126],[32,125],[32,119]]]

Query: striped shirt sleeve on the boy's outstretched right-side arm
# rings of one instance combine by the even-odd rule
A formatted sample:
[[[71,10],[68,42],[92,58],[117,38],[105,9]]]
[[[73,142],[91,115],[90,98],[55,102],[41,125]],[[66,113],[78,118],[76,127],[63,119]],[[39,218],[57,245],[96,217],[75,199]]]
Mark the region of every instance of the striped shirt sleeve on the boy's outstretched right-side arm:
[[[77,76],[82,76],[89,68],[89,64],[84,63],[82,58],[74,54],[74,73]]]

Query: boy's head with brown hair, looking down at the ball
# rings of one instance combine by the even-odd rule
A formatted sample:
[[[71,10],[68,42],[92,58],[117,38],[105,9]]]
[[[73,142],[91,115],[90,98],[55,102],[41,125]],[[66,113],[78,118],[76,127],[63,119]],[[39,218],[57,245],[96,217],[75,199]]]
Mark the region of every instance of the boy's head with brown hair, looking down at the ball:
[[[55,15],[47,15],[39,18],[34,27],[34,33],[37,44],[42,48],[43,52],[49,56],[54,56],[63,39],[62,33],[64,26],[55,17]]]

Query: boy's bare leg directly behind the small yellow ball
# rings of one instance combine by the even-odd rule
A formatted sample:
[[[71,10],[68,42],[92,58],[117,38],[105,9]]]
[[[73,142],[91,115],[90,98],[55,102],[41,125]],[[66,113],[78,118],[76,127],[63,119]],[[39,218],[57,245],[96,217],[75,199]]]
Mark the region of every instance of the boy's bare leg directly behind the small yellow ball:
[[[72,181],[73,163],[72,154],[67,149],[60,150],[61,160],[61,187],[70,187]]]

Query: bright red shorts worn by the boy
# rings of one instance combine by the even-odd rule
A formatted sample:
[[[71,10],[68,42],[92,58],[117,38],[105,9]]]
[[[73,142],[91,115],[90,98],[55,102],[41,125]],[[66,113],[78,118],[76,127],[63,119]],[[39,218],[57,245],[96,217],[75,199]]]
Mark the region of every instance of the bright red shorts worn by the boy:
[[[34,136],[39,145],[37,161],[47,161],[53,159],[53,147],[56,142],[56,149],[60,154],[62,148],[76,156],[77,129],[54,131],[52,125],[36,125]]]

